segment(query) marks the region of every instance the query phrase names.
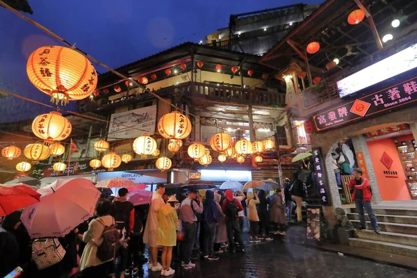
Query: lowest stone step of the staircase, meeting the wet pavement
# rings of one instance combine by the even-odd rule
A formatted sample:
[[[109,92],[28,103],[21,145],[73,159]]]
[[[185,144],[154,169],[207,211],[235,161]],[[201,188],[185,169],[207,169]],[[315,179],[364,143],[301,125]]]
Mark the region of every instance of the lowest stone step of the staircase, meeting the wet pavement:
[[[349,238],[349,245],[352,247],[366,248],[417,258],[417,247],[414,246],[407,246],[398,243],[385,243],[384,241],[362,238]]]

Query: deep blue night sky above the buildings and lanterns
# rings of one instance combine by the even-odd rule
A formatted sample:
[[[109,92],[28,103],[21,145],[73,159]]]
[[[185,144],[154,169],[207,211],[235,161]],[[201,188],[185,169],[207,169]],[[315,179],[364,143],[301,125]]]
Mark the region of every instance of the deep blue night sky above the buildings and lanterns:
[[[33,15],[25,13],[26,16],[113,68],[182,42],[199,42],[218,28],[227,27],[231,14],[300,3],[295,0],[28,2]],[[318,4],[322,1],[302,2]],[[26,60],[38,47],[60,45],[58,41],[2,7],[0,38],[0,88],[49,104],[49,96],[28,81]],[[96,69],[105,72],[102,68]],[[49,111],[49,108],[13,97],[0,99],[0,122],[24,120]]]

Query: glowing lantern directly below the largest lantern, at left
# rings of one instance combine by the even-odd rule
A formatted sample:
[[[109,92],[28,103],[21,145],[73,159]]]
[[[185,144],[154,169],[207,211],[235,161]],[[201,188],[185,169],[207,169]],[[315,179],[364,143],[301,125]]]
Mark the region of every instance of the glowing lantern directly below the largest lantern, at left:
[[[51,112],[35,117],[32,122],[32,131],[42,140],[60,141],[70,136],[72,126],[66,117],[58,112]]]

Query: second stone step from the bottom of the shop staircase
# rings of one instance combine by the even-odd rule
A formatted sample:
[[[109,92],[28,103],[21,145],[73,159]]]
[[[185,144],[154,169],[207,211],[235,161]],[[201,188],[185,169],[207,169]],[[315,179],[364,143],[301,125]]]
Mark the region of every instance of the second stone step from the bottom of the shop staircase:
[[[409,234],[391,233],[391,231],[381,231],[380,234],[371,230],[356,231],[357,238],[384,241],[385,243],[397,243],[417,247],[417,236]]]

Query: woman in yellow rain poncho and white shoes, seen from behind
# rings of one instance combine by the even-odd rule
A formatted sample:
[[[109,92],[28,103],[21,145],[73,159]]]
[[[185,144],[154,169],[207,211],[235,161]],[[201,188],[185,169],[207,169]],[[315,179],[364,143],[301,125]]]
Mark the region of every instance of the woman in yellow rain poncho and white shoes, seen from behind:
[[[177,203],[175,196],[171,196],[158,213],[158,237],[156,244],[163,247],[161,256],[162,272],[161,276],[170,276],[175,273],[171,265],[172,247],[177,245],[177,220],[178,215],[175,211],[175,204]]]

